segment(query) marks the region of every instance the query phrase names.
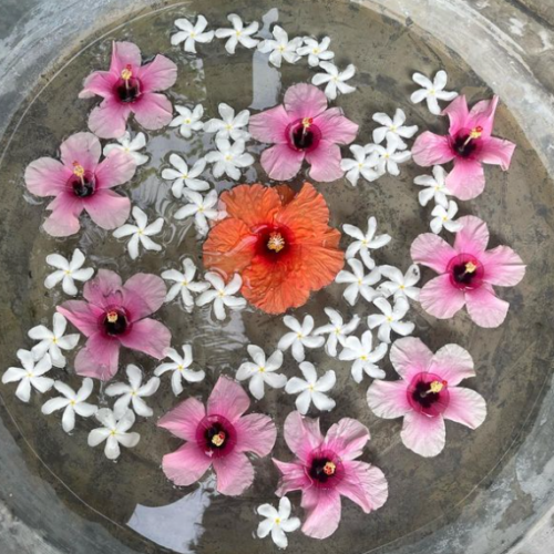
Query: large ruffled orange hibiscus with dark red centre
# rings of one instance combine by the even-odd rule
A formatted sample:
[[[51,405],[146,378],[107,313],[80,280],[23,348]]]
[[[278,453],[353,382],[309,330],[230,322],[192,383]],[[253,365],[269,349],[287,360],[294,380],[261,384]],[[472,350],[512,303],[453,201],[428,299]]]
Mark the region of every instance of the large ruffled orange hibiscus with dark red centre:
[[[340,233],[329,227],[321,194],[305,183],[239,185],[220,195],[228,217],[204,243],[204,265],[225,278],[243,277],[244,297],[268,314],[305,304],[331,283],[343,265]]]

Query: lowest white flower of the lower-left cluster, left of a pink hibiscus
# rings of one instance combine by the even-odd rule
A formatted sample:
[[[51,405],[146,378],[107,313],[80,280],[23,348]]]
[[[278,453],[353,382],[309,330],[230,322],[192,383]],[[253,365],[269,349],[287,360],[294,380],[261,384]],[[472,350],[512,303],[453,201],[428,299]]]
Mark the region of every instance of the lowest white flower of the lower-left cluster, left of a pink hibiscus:
[[[132,449],[138,444],[141,435],[127,431],[135,423],[133,410],[127,410],[121,418],[116,418],[109,408],[102,408],[95,413],[96,419],[103,427],[93,429],[89,433],[89,447],[98,447],[105,441],[104,454],[109,460],[117,460],[121,454],[120,444]]]

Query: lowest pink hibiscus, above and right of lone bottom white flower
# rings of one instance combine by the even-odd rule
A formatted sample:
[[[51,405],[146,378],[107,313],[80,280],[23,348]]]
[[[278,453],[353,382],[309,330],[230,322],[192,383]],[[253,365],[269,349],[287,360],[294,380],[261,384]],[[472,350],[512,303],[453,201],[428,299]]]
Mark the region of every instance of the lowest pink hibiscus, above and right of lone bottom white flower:
[[[274,459],[281,472],[277,495],[302,492],[306,535],[327,538],[337,531],[341,495],[356,502],[365,513],[387,501],[389,491],[382,471],[356,460],[368,440],[368,428],[355,419],[341,419],[324,437],[319,419],[302,418],[296,411],[287,417],[285,441],[297,459],[291,463]]]

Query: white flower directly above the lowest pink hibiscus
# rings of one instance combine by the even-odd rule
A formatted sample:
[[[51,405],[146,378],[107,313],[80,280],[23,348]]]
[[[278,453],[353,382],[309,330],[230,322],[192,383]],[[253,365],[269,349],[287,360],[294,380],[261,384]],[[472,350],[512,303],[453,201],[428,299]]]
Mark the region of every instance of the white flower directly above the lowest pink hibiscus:
[[[296,399],[296,408],[302,414],[308,413],[311,402],[319,411],[330,411],[335,408],[335,400],[329,398],[326,392],[329,392],[337,382],[337,376],[332,369],[325,372],[322,377],[317,378],[317,371],[314,363],[302,361],[300,371],[304,379],[293,377],[288,380],[285,387],[285,392],[288,394],[298,394]]]

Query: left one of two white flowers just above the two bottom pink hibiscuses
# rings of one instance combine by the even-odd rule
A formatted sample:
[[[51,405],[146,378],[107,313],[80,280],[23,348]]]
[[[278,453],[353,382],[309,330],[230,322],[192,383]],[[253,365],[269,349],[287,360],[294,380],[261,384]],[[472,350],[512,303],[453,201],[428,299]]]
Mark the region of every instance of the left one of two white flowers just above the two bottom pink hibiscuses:
[[[254,362],[245,361],[238,368],[236,378],[238,381],[249,379],[248,389],[255,399],[261,400],[264,398],[265,384],[274,389],[281,389],[287,384],[287,378],[281,373],[276,373],[283,366],[281,350],[276,350],[267,360],[264,350],[258,346],[249,345],[247,350]]]

